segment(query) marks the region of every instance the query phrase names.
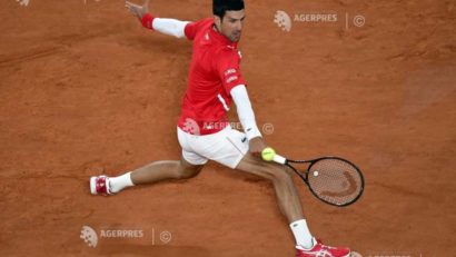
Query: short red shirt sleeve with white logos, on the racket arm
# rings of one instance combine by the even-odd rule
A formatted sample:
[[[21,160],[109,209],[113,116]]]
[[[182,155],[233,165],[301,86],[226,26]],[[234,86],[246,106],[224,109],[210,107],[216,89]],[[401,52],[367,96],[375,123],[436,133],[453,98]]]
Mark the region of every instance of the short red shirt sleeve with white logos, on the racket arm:
[[[239,65],[240,56],[237,50],[227,49],[221,51],[218,58],[217,72],[219,73],[221,85],[228,95],[236,86],[247,85],[240,73]]]

